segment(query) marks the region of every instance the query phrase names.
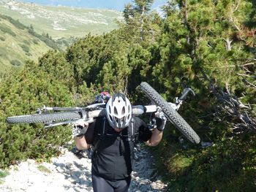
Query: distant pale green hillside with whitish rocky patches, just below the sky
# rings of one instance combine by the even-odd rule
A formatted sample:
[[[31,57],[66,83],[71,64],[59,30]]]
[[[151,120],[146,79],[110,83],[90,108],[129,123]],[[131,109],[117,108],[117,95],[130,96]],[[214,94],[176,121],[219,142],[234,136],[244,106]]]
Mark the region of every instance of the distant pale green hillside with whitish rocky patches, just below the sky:
[[[115,20],[122,18],[121,12],[111,9],[50,7],[12,0],[1,0],[0,12],[53,39],[103,34],[117,28]]]

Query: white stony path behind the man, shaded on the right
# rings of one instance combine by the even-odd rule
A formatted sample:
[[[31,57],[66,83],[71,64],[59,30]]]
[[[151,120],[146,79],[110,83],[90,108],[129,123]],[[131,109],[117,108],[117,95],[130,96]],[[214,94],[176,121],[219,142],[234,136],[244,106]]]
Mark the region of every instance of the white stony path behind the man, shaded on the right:
[[[10,174],[0,180],[0,191],[88,191],[92,192],[91,160],[78,158],[67,149],[62,155],[52,158],[51,163],[27,160],[10,167]],[[157,176],[153,156],[145,149],[136,151],[135,170],[129,192],[167,191],[167,185]]]

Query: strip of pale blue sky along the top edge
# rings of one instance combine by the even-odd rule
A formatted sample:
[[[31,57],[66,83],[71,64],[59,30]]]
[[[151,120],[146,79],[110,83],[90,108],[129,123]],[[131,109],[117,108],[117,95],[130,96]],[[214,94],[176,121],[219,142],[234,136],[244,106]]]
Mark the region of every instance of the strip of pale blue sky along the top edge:
[[[116,9],[122,11],[124,4],[132,2],[132,0],[18,0],[23,2],[33,2],[45,5],[64,5],[71,7],[85,7],[93,9]],[[155,0],[152,5],[153,9],[159,9],[167,0]]]

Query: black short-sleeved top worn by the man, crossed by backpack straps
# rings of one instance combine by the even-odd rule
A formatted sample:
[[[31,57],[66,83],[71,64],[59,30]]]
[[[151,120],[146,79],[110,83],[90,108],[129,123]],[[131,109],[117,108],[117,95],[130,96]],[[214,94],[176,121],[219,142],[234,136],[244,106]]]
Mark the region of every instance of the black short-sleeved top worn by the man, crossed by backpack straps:
[[[86,132],[86,142],[94,148],[92,174],[111,181],[124,180],[130,176],[135,144],[146,142],[151,137],[151,131],[143,120],[133,117],[133,122],[121,132],[110,127],[105,117],[96,118],[91,123]]]

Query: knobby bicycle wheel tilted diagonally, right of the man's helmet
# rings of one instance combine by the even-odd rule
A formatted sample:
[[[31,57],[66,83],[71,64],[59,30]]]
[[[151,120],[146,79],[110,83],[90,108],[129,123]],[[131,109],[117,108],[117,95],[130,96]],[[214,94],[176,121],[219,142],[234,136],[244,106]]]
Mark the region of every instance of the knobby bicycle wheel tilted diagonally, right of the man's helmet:
[[[195,133],[195,131],[189,126],[189,124],[181,117],[181,115],[176,112],[170,104],[162,98],[162,96],[148,85],[147,82],[140,83],[141,90],[148,96],[151,101],[153,101],[157,106],[162,108],[162,112],[165,113],[166,117],[170,120],[173,125],[178,128],[181,133],[189,139],[190,142],[198,144],[200,142],[200,137]]]

